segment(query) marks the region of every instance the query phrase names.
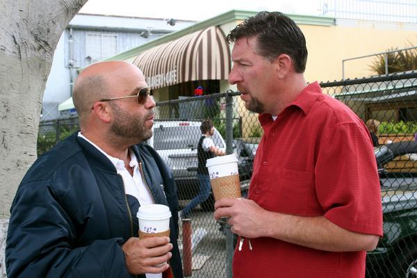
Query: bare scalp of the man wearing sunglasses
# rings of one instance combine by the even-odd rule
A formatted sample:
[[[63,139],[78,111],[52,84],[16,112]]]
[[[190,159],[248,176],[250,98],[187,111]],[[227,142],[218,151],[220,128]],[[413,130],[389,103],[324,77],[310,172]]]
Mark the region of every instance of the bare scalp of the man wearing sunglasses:
[[[136,65],[124,61],[101,62],[86,67],[77,77],[72,94],[80,124],[90,115],[96,101],[113,97],[115,90],[122,91],[124,81],[131,74],[138,74],[145,81]]]

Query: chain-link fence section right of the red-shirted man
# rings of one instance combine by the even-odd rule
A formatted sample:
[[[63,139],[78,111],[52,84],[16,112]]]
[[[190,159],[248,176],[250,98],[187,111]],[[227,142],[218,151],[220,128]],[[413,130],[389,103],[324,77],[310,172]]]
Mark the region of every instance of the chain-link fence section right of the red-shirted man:
[[[375,133],[384,237],[368,252],[368,277],[416,277],[417,73],[320,84]]]

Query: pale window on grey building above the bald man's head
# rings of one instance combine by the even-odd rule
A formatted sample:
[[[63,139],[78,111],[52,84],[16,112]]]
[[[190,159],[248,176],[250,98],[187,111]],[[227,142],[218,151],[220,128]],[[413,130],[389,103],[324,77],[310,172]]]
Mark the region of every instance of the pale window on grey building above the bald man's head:
[[[97,62],[117,54],[117,35],[87,33],[85,38],[85,59],[87,63]]]

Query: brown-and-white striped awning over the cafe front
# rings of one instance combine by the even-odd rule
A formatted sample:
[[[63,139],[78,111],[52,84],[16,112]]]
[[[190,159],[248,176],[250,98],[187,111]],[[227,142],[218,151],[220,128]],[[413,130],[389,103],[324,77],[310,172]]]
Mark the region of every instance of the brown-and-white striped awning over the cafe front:
[[[150,88],[162,88],[186,81],[227,79],[230,50],[218,26],[197,31],[153,47],[133,61]]]

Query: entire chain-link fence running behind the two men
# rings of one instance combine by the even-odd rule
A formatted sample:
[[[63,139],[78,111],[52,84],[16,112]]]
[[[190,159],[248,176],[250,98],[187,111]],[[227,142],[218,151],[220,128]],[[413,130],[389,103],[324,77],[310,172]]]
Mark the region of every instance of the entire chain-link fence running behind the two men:
[[[412,272],[417,262],[417,141],[414,139],[417,74],[320,85],[323,92],[343,101],[357,113],[370,130],[375,129],[384,238],[377,250],[368,252],[367,276],[415,277]],[[238,95],[238,92],[227,92],[161,101],[156,105],[154,136],[148,143],[171,167],[181,208],[199,193],[197,142],[201,137],[199,125],[206,118],[215,125],[215,145],[238,156],[240,187],[243,195],[247,194],[254,154],[263,131],[257,114],[247,111]],[[54,126],[67,133],[76,128],[76,120],[65,121],[41,122],[38,149],[45,143],[47,147],[54,145],[64,137],[55,133]],[[213,198],[209,197],[191,211],[190,222],[180,223],[180,246],[188,276],[231,277],[234,236],[227,225],[214,220],[212,211]]]

